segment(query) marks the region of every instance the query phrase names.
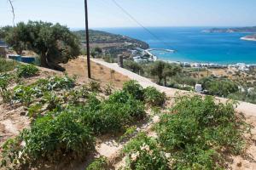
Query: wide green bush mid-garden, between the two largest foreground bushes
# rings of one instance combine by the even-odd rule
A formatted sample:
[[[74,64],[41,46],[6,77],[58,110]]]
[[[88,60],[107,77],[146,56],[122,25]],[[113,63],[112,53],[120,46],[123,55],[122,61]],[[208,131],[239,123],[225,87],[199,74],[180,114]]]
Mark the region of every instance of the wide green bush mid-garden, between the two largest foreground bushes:
[[[84,125],[92,127],[96,134],[119,133],[141,120],[145,116],[143,103],[129,94],[127,99],[115,100],[120,95],[123,93],[114,93],[103,102],[95,96],[90,97],[77,111],[83,117]]]

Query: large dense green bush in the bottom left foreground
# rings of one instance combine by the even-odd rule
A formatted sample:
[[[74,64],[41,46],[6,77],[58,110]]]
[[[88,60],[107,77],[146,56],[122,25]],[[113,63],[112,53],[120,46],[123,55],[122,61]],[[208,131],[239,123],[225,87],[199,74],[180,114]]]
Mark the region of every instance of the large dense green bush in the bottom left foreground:
[[[45,161],[58,162],[63,156],[80,160],[94,150],[95,139],[91,133],[90,127],[69,112],[40,117],[31,129],[3,145],[3,163],[32,166]]]

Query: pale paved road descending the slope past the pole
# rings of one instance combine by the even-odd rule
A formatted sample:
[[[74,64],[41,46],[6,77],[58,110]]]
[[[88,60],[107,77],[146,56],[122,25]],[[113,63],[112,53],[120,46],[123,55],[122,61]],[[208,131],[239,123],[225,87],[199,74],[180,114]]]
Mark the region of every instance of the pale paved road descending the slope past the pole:
[[[183,90],[177,90],[177,89],[174,89],[174,88],[166,88],[166,87],[157,85],[154,82],[151,82],[148,78],[141,77],[141,76],[139,76],[139,75],[137,75],[137,74],[135,74],[131,71],[120,68],[119,65],[117,65],[117,64],[107,63],[107,62],[102,61],[100,59],[91,59],[91,60],[100,64],[100,65],[106,66],[106,67],[108,67],[108,68],[110,68],[114,71],[117,71],[117,72],[131,78],[132,80],[136,80],[137,82],[139,82],[143,86],[143,88],[146,88],[148,86],[155,87],[155,88],[159,89],[161,92],[165,92],[166,95],[169,96],[169,97],[174,97],[176,93],[179,93],[179,94],[187,94],[188,93],[188,92],[183,91]],[[223,99],[223,98],[216,98],[216,99],[219,99],[222,102],[227,101],[227,99]],[[256,116],[256,105],[249,104],[249,103],[246,103],[246,102],[240,102],[239,105],[236,108],[236,111],[242,112],[247,116]]]

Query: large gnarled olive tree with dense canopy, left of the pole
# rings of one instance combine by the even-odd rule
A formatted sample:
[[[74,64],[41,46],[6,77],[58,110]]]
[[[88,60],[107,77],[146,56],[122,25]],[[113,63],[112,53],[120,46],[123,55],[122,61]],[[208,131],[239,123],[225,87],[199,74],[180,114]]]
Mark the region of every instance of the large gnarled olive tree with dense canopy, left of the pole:
[[[57,64],[67,63],[80,53],[79,39],[67,26],[43,21],[18,23],[9,29],[5,41],[18,54],[25,49],[32,50],[40,56],[41,66],[61,71]]]

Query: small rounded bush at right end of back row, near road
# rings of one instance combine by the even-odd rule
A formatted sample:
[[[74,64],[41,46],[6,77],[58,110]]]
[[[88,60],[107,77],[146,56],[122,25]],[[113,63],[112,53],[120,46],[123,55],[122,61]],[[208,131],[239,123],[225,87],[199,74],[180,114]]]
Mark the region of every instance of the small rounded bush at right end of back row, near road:
[[[144,89],[144,98],[146,103],[152,106],[161,106],[166,102],[166,94],[160,93],[160,91],[154,87]]]

